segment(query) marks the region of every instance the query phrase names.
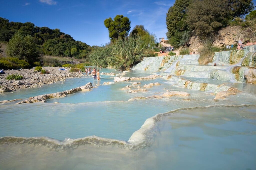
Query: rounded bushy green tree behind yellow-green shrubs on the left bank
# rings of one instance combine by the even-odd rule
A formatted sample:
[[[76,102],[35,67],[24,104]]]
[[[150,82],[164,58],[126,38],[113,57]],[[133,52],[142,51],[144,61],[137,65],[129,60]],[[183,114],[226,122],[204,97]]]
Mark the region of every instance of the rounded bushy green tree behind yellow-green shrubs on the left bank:
[[[29,64],[33,64],[39,59],[34,38],[29,35],[23,36],[18,32],[7,43],[6,53],[9,57],[25,60]]]

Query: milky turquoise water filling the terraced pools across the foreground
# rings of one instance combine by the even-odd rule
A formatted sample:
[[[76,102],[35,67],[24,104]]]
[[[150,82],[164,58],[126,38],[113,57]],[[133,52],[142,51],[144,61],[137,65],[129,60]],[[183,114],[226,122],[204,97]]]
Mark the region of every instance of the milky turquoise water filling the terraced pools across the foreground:
[[[123,76],[151,74],[159,73]],[[46,103],[0,105],[1,169],[255,169],[255,85],[230,83],[242,92],[215,101],[210,91],[172,86],[175,82],[161,77],[129,82],[113,82],[113,77],[82,76],[1,94],[0,100],[26,99],[100,84]],[[121,90],[127,85],[136,89],[133,82],[161,85],[147,92]],[[167,91],[190,96],[128,101]]]

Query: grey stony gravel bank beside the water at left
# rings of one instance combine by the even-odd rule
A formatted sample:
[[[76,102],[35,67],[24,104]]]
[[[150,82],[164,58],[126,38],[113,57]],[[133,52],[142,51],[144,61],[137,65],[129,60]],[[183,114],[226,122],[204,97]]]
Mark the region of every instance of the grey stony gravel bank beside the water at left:
[[[59,70],[64,67],[43,67],[50,74],[40,74],[35,69],[5,70],[5,74],[0,74],[0,93],[14,91],[16,89],[40,87],[43,84],[51,84],[57,81],[64,81],[66,78],[80,77],[82,74],[71,73],[70,68]],[[22,80],[6,80],[6,76],[11,74],[22,75]]]

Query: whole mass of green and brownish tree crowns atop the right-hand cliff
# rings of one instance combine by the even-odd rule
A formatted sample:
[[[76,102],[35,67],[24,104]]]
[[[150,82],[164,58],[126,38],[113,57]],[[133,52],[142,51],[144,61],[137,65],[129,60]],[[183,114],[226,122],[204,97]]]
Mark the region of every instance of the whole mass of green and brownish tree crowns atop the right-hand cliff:
[[[205,39],[253,8],[252,0],[176,0],[166,14],[166,35],[176,47],[185,45],[193,30]]]

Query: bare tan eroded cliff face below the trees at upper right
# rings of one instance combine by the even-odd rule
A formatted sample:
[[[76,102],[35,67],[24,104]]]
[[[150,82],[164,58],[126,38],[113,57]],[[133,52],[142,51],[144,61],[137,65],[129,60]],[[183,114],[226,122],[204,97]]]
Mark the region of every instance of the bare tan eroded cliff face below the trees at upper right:
[[[243,38],[243,41],[250,40],[255,41],[251,38],[251,31],[247,28],[242,28],[241,26],[229,26],[222,28],[218,35],[215,37],[213,45],[216,47],[227,46],[231,44],[237,44],[240,38]],[[197,37],[191,37],[189,41],[189,49],[192,51],[198,51],[202,47],[202,41]]]

